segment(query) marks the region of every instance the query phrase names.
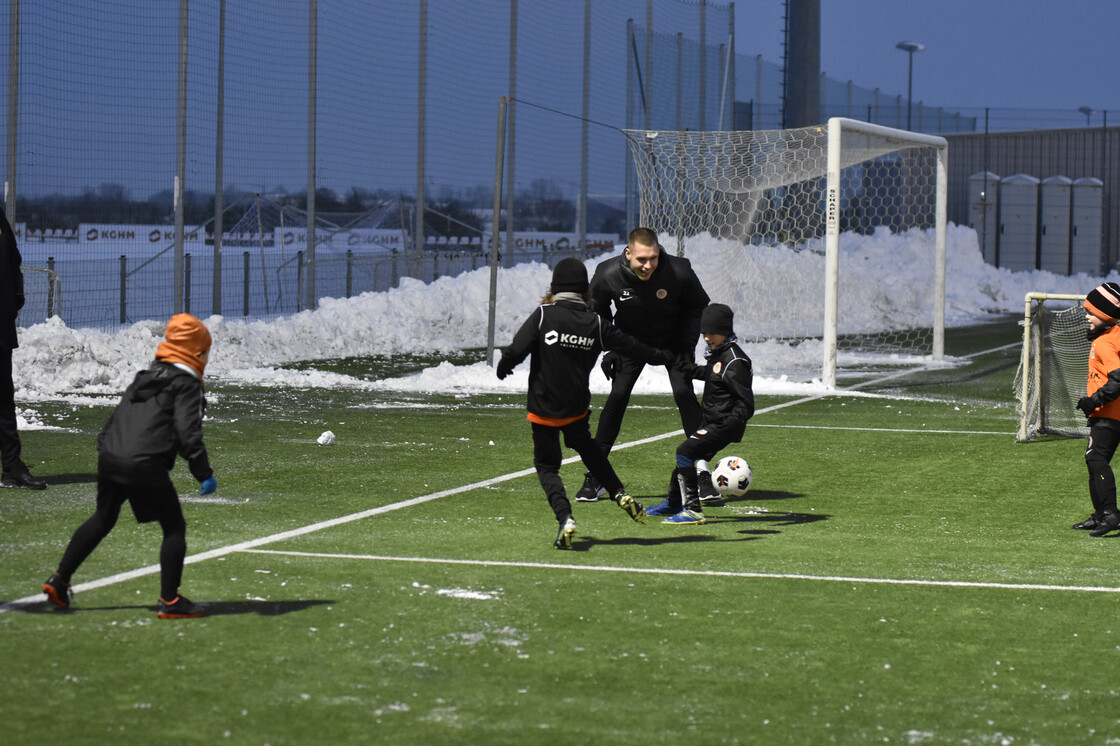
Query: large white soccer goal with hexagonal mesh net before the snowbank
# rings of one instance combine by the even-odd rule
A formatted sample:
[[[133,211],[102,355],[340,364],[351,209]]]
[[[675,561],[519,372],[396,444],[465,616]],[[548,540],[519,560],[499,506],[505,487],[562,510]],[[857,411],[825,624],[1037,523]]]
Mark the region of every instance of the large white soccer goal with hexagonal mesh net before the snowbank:
[[[814,354],[801,365],[830,386],[838,349],[895,362],[943,356],[943,138],[840,118],[791,130],[625,133],[642,225],[694,263],[708,246],[731,252],[701,279],[735,309],[740,338],[808,346]],[[887,235],[907,244],[897,269],[918,280],[903,295],[859,255]],[[877,273],[881,282],[869,283]],[[791,304],[809,298],[823,298],[823,310],[820,300]],[[804,358],[788,360],[788,370],[764,372],[804,375]]]

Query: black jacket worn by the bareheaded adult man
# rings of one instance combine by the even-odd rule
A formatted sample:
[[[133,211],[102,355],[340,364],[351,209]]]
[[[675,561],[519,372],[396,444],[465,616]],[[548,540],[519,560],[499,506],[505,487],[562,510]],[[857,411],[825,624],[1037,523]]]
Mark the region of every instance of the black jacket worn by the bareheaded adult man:
[[[626,334],[679,355],[696,352],[708,293],[688,259],[662,249],[657,269],[642,281],[624,252],[599,262],[588,295],[596,313]]]

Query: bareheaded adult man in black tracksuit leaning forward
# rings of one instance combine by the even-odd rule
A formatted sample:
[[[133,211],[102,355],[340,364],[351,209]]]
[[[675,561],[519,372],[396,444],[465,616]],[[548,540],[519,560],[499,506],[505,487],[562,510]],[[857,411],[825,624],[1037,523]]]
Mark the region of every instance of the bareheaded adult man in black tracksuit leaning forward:
[[[689,260],[669,255],[657,243],[657,234],[650,229],[634,229],[622,255],[599,262],[591,278],[590,296],[595,310],[626,334],[692,360],[708,293]],[[610,453],[618,438],[631,392],[644,367],[643,361],[625,353],[603,356],[603,372],[612,384],[599,414],[595,440],[605,453]],[[681,426],[685,435],[691,435],[700,426],[700,404],[692,381],[669,366],[669,382],[681,414]],[[699,466],[702,493],[717,496],[707,463]],[[601,486],[588,474],[576,500],[595,502],[603,494]]]

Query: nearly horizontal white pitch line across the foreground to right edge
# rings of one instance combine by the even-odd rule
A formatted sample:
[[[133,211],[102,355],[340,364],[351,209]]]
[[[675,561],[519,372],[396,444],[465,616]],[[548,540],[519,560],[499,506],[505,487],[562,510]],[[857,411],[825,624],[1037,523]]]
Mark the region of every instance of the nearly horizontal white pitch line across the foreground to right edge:
[[[903,578],[856,578],[839,575],[803,575],[799,572],[731,572],[727,570],[674,570],[646,567],[613,567],[606,565],[560,565],[558,562],[508,562],[502,560],[441,559],[429,557],[388,557],[383,554],[339,554],[334,552],[301,552],[279,549],[245,549],[253,554],[310,557],[321,559],[364,560],[371,562],[418,562],[428,565],[468,565],[472,567],[520,567],[548,570],[588,570],[591,572],[634,572],[638,575],[685,575],[712,578],[750,578],[769,580],[823,580],[828,582],[861,582],[887,586],[939,586],[944,588],[997,588],[1007,590],[1080,590],[1096,594],[1120,594],[1120,588],[1108,586],[1055,586],[1025,582],[981,582],[978,580],[921,580]]]

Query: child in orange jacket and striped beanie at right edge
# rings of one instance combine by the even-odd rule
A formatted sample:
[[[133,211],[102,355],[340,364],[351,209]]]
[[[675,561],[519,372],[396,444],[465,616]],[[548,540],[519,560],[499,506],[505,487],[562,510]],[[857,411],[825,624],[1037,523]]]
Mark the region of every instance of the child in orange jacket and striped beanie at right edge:
[[[1089,321],[1089,385],[1077,409],[1089,418],[1089,496],[1093,514],[1074,529],[1103,537],[1120,529],[1117,510],[1117,481],[1112,455],[1120,446],[1120,285],[1105,282],[1089,292],[1083,304]]]

